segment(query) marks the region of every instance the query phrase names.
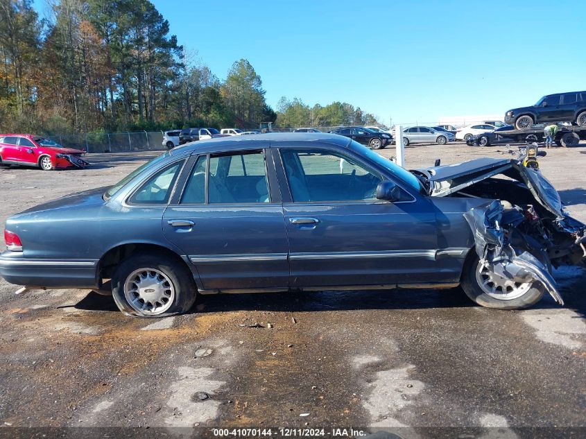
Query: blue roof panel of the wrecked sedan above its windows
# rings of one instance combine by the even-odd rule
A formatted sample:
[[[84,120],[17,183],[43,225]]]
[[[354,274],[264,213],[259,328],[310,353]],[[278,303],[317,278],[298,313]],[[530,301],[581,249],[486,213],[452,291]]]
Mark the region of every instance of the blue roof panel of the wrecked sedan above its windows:
[[[345,148],[351,141],[347,137],[329,134],[327,132],[268,132],[266,134],[216,137],[214,139],[193,141],[182,146],[176,146],[170,151],[170,154],[182,154],[196,150],[200,150],[202,153],[213,153],[216,151],[240,150],[254,147],[298,146],[303,148],[304,146],[314,146],[316,143],[331,144]]]

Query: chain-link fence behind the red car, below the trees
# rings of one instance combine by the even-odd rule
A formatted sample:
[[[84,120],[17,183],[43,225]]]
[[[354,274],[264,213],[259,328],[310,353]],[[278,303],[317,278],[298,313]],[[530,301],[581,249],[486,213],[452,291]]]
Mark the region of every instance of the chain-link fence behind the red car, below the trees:
[[[132,151],[165,150],[162,131],[112,132],[45,136],[66,148],[88,153],[130,153]]]

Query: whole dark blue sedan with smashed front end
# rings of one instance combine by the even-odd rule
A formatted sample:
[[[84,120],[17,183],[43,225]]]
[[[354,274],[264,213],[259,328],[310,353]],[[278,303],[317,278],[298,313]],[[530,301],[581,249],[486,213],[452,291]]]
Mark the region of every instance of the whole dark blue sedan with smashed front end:
[[[551,269],[584,264],[585,228],[517,160],[406,171],[347,137],[253,135],[174,148],[8,218],[0,275],[112,294],[139,317],[197,294],[458,284],[520,309],[563,303]]]

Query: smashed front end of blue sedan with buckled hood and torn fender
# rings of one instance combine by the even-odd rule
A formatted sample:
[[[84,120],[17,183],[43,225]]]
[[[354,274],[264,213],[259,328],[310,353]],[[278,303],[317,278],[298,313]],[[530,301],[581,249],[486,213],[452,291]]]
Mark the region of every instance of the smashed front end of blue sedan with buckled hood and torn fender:
[[[479,159],[412,171],[430,196],[487,203],[464,214],[483,268],[511,282],[539,282],[563,304],[551,268],[585,266],[586,225],[571,218],[539,171],[518,160]]]

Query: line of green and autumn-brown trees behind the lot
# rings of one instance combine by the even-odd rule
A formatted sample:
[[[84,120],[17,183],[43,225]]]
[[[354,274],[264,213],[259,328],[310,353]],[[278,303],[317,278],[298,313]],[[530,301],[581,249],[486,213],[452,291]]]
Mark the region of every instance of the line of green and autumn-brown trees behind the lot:
[[[0,131],[77,133],[188,126],[375,123],[334,102],[282,98],[275,112],[250,62],[220,80],[178,44],[148,0],[0,0]]]

